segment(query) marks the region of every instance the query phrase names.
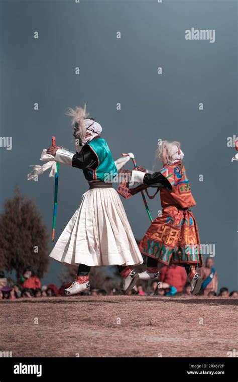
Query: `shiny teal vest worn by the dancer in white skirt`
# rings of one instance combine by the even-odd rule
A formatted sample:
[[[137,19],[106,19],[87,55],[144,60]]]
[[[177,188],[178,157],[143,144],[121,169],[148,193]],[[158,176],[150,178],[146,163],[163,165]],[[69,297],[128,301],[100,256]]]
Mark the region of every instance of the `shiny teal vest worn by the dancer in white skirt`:
[[[90,173],[93,179],[98,179],[102,181],[112,181],[113,178],[117,175],[118,171],[105,139],[96,138],[87,144],[90,146],[91,150],[96,154],[99,164],[95,169],[88,169],[84,171]]]

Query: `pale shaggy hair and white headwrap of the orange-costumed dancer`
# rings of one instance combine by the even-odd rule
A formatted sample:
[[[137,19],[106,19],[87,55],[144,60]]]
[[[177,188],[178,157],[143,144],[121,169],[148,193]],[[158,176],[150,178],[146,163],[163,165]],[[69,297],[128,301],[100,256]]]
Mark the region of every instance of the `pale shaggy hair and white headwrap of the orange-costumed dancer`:
[[[177,154],[180,151],[181,154]],[[180,142],[162,141],[158,149],[155,152],[155,161],[162,160],[164,166],[173,164],[176,160],[183,159],[183,152],[180,150]]]

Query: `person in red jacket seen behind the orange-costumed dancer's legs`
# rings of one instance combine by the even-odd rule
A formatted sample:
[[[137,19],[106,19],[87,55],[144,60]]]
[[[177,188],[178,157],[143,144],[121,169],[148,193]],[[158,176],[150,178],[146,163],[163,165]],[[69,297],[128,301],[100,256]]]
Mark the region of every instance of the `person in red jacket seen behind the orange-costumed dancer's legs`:
[[[187,281],[187,274],[184,267],[171,264],[164,266],[160,271],[160,281],[167,282],[177,289],[177,293],[183,292]]]

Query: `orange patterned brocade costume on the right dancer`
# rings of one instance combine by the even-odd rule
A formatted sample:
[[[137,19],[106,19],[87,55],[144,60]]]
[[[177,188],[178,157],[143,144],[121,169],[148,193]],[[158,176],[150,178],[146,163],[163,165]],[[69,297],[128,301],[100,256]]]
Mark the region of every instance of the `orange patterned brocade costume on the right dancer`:
[[[162,215],[157,217],[139,244],[141,252],[163,264],[202,266],[200,239],[190,207],[196,203],[181,161],[160,170],[172,190],[160,188]]]

